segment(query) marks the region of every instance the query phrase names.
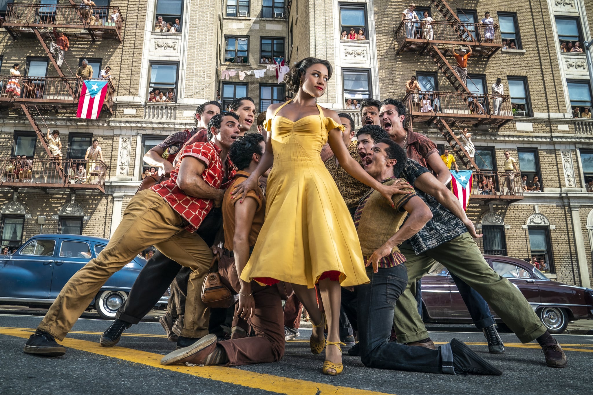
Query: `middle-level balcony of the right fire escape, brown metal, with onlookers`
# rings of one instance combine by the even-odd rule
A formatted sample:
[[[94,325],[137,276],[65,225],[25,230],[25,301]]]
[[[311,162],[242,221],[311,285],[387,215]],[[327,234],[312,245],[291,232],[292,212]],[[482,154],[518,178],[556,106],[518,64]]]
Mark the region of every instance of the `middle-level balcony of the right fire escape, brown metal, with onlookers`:
[[[431,100],[430,110],[420,102],[425,94]],[[460,126],[500,128],[513,119],[509,95],[420,91],[419,101],[414,101],[411,93],[407,93],[402,101],[413,122],[426,122],[428,125],[437,117],[445,117],[454,119]],[[495,107],[498,107],[496,111]]]

